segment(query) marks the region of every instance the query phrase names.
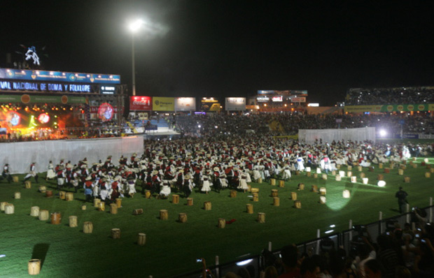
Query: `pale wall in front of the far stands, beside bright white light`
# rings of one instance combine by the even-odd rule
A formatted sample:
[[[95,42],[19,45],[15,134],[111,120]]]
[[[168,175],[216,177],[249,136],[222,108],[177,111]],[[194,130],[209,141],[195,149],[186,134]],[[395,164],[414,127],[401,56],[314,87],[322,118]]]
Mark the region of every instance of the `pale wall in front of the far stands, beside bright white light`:
[[[315,140],[322,139],[323,142],[333,140],[372,140],[375,142],[375,128],[363,127],[360,129],[300,129],[298,140],[306,144],[313,144]]]

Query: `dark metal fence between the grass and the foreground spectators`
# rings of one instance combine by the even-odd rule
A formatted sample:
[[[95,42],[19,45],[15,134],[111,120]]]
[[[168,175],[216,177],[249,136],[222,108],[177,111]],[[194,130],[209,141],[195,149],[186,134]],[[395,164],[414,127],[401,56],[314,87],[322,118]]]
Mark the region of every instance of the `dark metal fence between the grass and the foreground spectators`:
[[[428,215],[428,221],[433,221],[433,198],[430,198],[430,206],[424,207],[421,210],[425,210]],[[381,212],[379,218],[381,219]],[[400,214],[395,217],[390,217],[388,219],[381,219],[379,221],[374,221],[370,224],[365,224],[365,229],[367,233],[369,233],[372,240],[376,240],[378,235],[381,233],[386,232],[387,225],[389,223],[395,223],[397,222],[400,224],[401,227],[404,226],[405,223],[410,223],[414,225],[414,222],[412,222],[412,212],[409,211],[405,214]],[[351,225],[351,220],[349,221],[349,226]],[[333,233],[324,237],[317,237],[314,240],[309,240],[307,242],[301,242],[297,244],[297,248],[299,251],[299,254],[318,254],[321,250],[321,241],[323,240],[330,240],[333,242],[334,247],[342,247],[346,254],[351,254],[352,247],[354,247],[354,242],[351,240],[356,237],[358,234],[358,231],[356,228],[349,228],[346,231],[342,231],[339,233]],[[271,242],[270,244],[271,245]],[[270,250],[271,251],[271,250]],[[272,251],[272,254],[274,256],[280,255],[280,250],[274,250]],[[216,257],[216,261],[218,261],[218,257]],[[260,271],[263,270],[267,265],[264,263],[264,257],[261,254],[251,256],[248,258],[243,258],[242,260],[232,261],[229,263],[224,263],[221,265],[213,265],[211,267],[208,267],[208,269],[211,271],[211,273],[216,278],[224,277],[224,275],[228,272],[235,272],[237,273],[237,270],[239,268],[247,268],[252,270],[255,275],[253,277],[259,278],[260,277]],[[202,277],[202,270],[197,270],[194,272],[189,272],[183,275],[176,276],[176,278],[198,278]]]

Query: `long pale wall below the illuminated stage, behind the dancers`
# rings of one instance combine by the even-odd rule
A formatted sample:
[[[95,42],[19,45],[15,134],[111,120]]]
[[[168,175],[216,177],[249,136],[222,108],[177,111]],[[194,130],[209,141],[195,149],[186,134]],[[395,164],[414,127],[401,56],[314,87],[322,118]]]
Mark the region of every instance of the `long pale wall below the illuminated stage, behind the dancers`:
[[[141,136],[122,138],[98,138],[76,140],[45,140],[32,142],[10,142],[0,144],[1,167],[9,163],[10,172],[28,173],[29,166],[36,162],[36,172],[45,172],[51,160],[56,166],[60,159],[71,161],[72,164],[87,158],[87,165],[106,161],[112,156],[117,165],[121,155],[130,157],[134,152],[144,151],[144,139]]]

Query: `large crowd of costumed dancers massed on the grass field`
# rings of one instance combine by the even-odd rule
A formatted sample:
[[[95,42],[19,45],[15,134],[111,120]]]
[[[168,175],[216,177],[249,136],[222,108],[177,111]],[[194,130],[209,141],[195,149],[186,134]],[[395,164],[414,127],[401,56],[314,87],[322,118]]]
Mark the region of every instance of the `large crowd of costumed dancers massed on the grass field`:
[[[351,166],[357,162],[369,167],[388,161],[399,163],[411,155],[426,156],[432,151],[432,145],[343,140],[330,143],[319,140],[304,145],[296,140],[266,136],[225,141],[187,138],[148,141],[143,154],[122,156],[119,161],[112,161],[111,156],[92,165],[86,158],[74,165],[62,160],[55,166],[50,161],[46,179],[57,181],[59,190],[69,188],[77,192],[83,188],[86,200],[94,197],[110,202],[119,197],[134,197],[136,186],[141,187],[141,193],[148,190],[156,198],[167,198],[172,191],[187,198],[193,191],[220,193],[227,188],[246,191],[252,180],[267,181],[273,177],[288,180],[291,173],[302,172],[307,167],[321,168],[321,172],[328,173],[337,170],[339,164]],[[31,177],[38,181],[35,163],[31,163],[25,180]],[[10,181],[7,164],[2,178]]]

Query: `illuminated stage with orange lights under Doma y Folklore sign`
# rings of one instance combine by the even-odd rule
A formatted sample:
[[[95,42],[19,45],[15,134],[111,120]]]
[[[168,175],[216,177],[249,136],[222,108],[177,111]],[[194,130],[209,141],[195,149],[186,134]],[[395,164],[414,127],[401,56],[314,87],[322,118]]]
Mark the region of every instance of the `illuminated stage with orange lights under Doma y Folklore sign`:
[[[67,129],[120,124],[124,89],[119,75],[0,68],[1,140],[71,138]]]

